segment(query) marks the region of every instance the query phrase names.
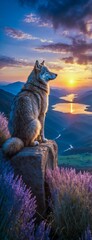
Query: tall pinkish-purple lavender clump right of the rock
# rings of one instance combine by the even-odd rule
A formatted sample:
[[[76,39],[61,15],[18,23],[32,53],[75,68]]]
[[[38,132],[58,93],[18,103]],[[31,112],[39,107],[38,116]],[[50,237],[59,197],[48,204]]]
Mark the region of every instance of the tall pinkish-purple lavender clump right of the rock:
[[[74,169],[47,170],[53,228],[64,240],[76,240],[92,226],[92,175]]]

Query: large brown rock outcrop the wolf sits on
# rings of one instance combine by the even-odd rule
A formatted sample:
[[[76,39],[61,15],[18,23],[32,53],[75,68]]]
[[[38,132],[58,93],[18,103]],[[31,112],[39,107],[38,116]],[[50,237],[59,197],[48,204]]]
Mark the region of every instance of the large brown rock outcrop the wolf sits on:
[[[22,176],[23,181],[36,195],[38,212],[46,211],[46,169],[57,166],[57,144],[54,141],[42,143],[36,147],[25,147],[10,159],[15,175]]]

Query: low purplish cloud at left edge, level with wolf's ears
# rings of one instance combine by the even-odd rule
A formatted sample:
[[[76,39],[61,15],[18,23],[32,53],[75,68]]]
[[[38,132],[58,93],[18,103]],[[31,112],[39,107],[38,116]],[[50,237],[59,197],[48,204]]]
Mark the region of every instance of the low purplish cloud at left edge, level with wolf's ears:
[[[0,69],[5,67],[22,67],[22,66],[32,66],[31,62],[23,59],[15,59],[7,56],[0,56]]]

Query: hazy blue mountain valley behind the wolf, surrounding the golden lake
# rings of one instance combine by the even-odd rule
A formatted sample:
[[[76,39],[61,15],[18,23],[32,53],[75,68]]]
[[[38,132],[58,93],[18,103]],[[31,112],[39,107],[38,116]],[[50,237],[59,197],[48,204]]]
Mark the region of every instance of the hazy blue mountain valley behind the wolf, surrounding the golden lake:
[[[11,83],[0,86],[0,111],[9,117],[11,103],[23,87],[22,82]],[[49,96],[49,109],[46,115],[45,135],[48,139],[53,139],[58,144],[59,157],[92,153],[92,91],[77,93],[72,100],[73,103],[89,105],[90,114],[72,114],[71,112],[53,111],[53,105],[69,104],[69,99],[65,100],[69,92],[64,89],[51,88]],[[70,99],[71,100],[71,99]],[[71,102],[71,101],[70,101]],[[87,111],[87,109],[86,109]],[[86,164],[86,163],[85,163]]]

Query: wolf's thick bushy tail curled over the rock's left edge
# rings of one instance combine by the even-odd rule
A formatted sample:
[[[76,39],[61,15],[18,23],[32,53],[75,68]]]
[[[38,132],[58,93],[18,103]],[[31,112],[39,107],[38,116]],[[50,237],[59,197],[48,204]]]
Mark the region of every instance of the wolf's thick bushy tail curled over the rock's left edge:
[[[2,146],[4,154],[8,157],[18,153],[24,147],[24,143],[17,137],[8,138]]]

